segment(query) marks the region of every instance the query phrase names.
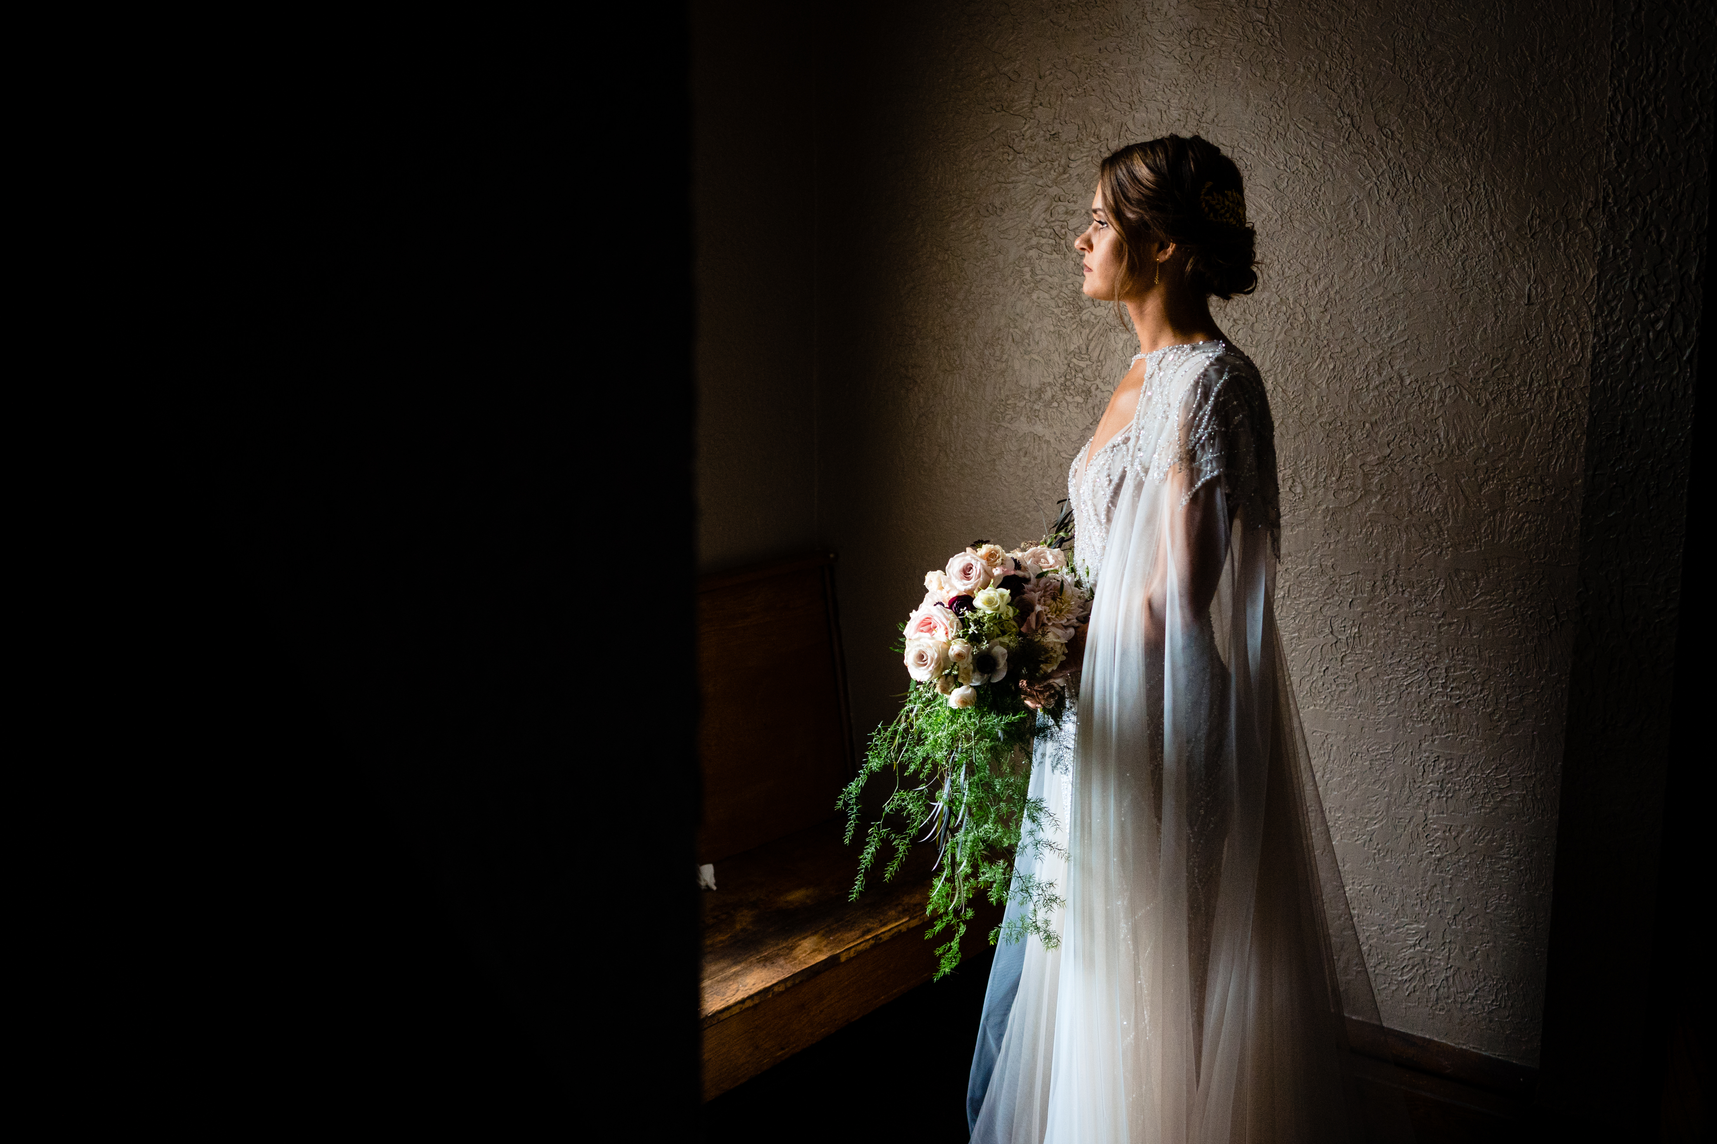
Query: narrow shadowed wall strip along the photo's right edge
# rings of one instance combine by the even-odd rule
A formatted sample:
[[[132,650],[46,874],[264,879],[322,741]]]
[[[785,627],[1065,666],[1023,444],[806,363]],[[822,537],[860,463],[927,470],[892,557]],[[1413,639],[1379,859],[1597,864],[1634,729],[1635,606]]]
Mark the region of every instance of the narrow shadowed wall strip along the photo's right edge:
[[[1700,535],[1683,527],[1700,508],[1688,480],[1708,283],[1714,24],[1710,5],[1691,0],[1616,0],[1611,12],[1578,612],[1537,1091],[1552,1134],[1568,1139],[1645,1139],[1657,1123],[1652,938],[1665,912],[1691,906],[1659,890],[1674,863],[1662,832],[1674,815],[1665,796],[1686,633],[1678,592],[1686,544]]]

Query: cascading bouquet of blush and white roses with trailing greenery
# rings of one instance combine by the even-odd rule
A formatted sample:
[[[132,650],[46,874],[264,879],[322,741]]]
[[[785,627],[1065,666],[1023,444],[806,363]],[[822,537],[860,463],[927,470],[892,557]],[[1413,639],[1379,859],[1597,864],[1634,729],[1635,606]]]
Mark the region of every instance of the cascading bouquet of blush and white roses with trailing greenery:
[[[1004,551],[977,540],[946,568],[924,575],[924,600],[901,628],[912,688],[900,715],[871,736],[865,762],[840,799],[852,842],[865,782],[883,770],[895,775],[881,818],[865,832],[855,899],[879,854],[893,851],[884,866],[884,878],[893,878],[920,830],[917,840],[937,842],[939,875],[927,906],[934,924],[925,936],[953,926],[936,950],[937,978],[960,964],[977,894],[996,904],[1013,894],[1028,906],[1010,933],[998,926],[991,943],[1035,933],[1056,945],[1046,916],[1061,899],[1053,883],[1015,878],[1013,856],[1020,846],[1054,846],[1042,799],[1027,798],[1032,741],[1041,731],[1020,683],[1059,719],[1065,691],[1049,676],[1066,659],[1092,599],[1071,552],[1073,516],[1065,511],[1039,544]]]

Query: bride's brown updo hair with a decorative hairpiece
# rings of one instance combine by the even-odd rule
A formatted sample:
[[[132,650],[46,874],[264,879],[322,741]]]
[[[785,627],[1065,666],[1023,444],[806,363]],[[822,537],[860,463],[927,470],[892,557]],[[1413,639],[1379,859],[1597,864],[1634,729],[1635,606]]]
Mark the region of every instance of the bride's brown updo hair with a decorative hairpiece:
[[[1152,242],[1173,242],[1176,254],[1185,252],[1193,290],[1228,300],[1259,288],[1247,189],[1240,168],[1216,144],[1198,135],[1135,142],[1102,161],[1097,187],[1121,238],[1123,295],[1154,281]]]

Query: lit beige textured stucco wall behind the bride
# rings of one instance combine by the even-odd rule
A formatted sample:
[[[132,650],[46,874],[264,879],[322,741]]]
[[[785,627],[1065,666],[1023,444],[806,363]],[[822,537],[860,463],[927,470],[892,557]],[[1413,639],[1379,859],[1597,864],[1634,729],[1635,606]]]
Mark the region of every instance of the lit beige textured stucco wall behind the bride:
[[[1219,142],[1267,264],[1217,321],[1271,386],[1281,629],[1384,1019],[1535,1063],[1609,10],[1413,7],[843,27],[819,113],[821,532],[871,727],[922,569],[1039,530],[1137,348],[1078,292],[1097,160]]]

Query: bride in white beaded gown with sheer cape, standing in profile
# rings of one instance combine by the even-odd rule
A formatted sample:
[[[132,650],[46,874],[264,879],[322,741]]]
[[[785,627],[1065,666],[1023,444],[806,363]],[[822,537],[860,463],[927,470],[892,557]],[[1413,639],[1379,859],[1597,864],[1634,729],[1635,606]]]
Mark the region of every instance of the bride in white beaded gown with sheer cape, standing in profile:
[[[996,950],[972,1139],[1362,1139],[1344,1015],[1377,1015],[1276,631],[1271,410],[1209,307],[1257,285],[1240,170],[1133,144],[1090,214],[1085,293],[1140,353],[1068,475],[1097,595],[1034,755],[1054,828],[1015,864],[1059,943]]]

